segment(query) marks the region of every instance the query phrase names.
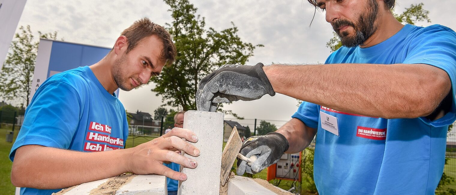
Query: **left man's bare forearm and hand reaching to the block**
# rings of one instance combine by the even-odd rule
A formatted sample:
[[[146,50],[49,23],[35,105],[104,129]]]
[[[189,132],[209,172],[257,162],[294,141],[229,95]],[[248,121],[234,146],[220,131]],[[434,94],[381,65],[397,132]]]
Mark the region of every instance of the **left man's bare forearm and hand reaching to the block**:
[[[173,128],[161,137],[130,149],[85,153],[24,145],[16,150],[11,182],[18,187],[58,189],[125,172],[160,174],[173,180],[185,181],[186,174],[173,171],[162,163],[171,161],[187,168],[196,168],[196,160],[174,152],[182,150],[198,156],[199,150],[188,141],[198,141],[194,132],[185,128]]]

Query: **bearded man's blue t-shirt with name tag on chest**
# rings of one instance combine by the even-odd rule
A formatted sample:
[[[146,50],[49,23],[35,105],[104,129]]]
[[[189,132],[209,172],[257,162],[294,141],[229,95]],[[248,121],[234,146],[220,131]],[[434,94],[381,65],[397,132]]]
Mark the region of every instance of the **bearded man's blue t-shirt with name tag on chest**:
[[[292,117],[318,129],[314,179],[319,194],[435,194],[443,173],[448,125],[456,118],[456,33],[440,25],[405,25],[397,34],[375,46],[341,47],[325,63],[439,67],[451,79],[452,103],[449,113],[434,121],[425,117],[366,117],[302,103]],[[326,113],[337,117],[339,136],[321,127],[321,122],[331,117],[320,118],[320,112],[323,116]]]

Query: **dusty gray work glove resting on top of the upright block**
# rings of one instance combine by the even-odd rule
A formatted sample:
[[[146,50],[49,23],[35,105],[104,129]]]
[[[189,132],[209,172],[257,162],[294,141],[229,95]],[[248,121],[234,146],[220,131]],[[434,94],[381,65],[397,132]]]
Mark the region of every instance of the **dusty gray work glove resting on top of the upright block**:
[[[256,100],[275,92],[263,71],[255,66],[223,65],[200,81],[196,94],[197,110],[215,112],[218,103]]]

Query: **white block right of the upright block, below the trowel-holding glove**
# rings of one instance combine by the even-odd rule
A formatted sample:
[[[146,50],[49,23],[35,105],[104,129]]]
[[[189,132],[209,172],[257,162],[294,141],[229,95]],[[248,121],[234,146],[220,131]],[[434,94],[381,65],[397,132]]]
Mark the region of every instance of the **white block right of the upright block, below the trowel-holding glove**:
[[[275,186],[271,187],[279,193],[290,193]],[[277,195],[279,193],[265,188],[252,178],[235,175],[234,178],[228,180],[228,195]]]

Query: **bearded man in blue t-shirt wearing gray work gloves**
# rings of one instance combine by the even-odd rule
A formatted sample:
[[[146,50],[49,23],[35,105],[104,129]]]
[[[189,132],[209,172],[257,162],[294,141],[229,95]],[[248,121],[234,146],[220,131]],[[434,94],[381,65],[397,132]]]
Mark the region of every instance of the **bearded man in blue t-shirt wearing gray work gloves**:
[[[200,81],[203,111],[275,92],[304,101],[276,132],[244,142],[240,153],[258,159],[238,159],[237,174],[258,173],[316,135],[320,195],[435,194],[456,119],[456,33],[401,24],[394,0],[309,2],[343,45],[324,65],[224,65]]]

